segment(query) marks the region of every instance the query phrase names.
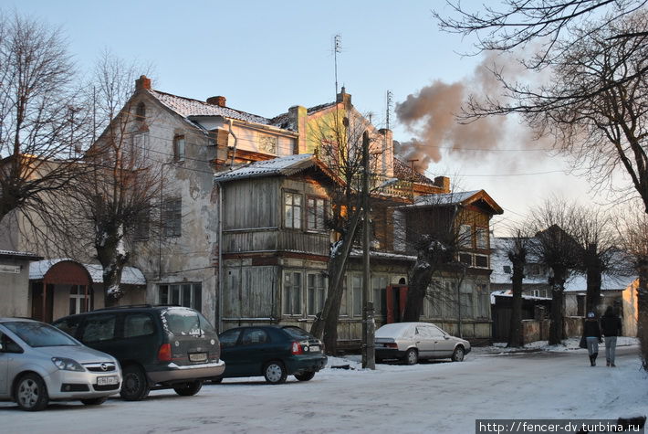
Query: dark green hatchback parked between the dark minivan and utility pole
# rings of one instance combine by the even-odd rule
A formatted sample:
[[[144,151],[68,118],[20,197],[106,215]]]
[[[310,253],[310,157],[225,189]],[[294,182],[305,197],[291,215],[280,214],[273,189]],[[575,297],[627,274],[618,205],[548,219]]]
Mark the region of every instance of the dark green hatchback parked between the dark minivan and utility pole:
[[[218,336],[225,372],[213,378],[265,376],[270,384],[287,376],[308,381],[327,363],[322,342],[299,327],[258,325],[237,327]]]

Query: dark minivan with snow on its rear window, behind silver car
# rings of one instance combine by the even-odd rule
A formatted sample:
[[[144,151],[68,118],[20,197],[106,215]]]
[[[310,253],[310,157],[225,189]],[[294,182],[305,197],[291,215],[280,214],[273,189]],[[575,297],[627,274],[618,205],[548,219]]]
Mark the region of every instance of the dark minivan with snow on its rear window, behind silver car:
[[[205,378],[225,371],[214,327],[193,309],[124,306],[67,316],[54,325],[119,360],[124,399],[143,399],[152,388],[195,395]]]

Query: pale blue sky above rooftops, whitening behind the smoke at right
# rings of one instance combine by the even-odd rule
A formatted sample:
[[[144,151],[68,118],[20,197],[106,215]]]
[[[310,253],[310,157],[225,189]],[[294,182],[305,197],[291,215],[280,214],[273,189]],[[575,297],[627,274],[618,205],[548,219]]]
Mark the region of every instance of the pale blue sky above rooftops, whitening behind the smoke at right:
[[[386,92],[391,90],[395,140],[420,140],[439,132],[430,152],[440,160],[431,161],[426,175],[449,175],[465,190],[486,189],[505,209],[505,216],[496,220],[496,232],[555,191],[605,201],[588,196],[585,180],[556,173],[567,164],[535,151],[546,144],[533,143],[515,120],[497,124],[488,134],[480,128],[472,135],[453,133],[448,142],[443,130],[455,131],[454,121],[432,122],[430,132],[423,128],[431,119],[424,113],[409,122],[397,117],[395,109],[410,95],[410,101],[431,95],[431,110],[438,115],[455,106],[442,100],[447,92],[437,90],[458,86],[466,94],[479,81],[476,68],[484,58],[460,56],[470,51],[470,41],[441,33],[434,22],[431,8],[443,7],[440,0],[398,5],[376,0],[3,3],[5,12],[16,8],[60,26],[81,70],[89,70],[110,49],[120,58],[151,64],[154,89],[198,100],[224,95],[229,107],[266,117],[293,105],[333,101],[332,41],[339,34],[338,81],[356,108],[371,111],[373,123],[384,127]],[[480,142],[484,137],[489,143]]]

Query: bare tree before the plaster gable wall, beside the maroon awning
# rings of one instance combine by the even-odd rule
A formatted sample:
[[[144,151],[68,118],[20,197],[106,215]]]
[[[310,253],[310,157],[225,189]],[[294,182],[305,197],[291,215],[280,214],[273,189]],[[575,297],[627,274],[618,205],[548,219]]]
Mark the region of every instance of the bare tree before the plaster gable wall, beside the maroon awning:
[[[74,183],[68,213],[78,239],[89,240],[101,264],[108,306],[123,295],[121,273],[131,242],[150,237],[162,205],[162,164],[146,141],[151,120],[132,90],[136,69],[108,52],[99,59],[88,89],[103,132],[85,154],[89,169]]]

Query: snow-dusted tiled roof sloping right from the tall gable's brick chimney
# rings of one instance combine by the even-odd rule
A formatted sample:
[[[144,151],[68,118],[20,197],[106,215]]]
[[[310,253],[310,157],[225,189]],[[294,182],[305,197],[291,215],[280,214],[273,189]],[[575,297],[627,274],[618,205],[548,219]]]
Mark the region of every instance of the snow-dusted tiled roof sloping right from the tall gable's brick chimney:
[[[267,118],[257,116],[256,114],[230,109],[229,107],[221,107],[216,104],[209,104],[204,101],[192,100],[191,98],[179,97],[159,90],[149,91],[158,101],[183,116],[183,118],[189,118],[191,116],[223,116],[238,121],[270,124]]]

